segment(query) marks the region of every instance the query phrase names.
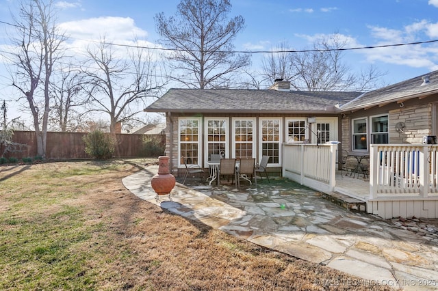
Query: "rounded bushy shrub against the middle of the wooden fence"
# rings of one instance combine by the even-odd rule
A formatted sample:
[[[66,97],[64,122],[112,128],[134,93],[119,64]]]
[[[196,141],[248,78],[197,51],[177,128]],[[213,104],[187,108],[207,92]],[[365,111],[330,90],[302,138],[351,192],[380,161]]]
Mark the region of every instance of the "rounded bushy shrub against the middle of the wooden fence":
[[[85,152],[99,160],[111,158],[116,150],[116,139],[100,130],[94,130],[83,137]]]

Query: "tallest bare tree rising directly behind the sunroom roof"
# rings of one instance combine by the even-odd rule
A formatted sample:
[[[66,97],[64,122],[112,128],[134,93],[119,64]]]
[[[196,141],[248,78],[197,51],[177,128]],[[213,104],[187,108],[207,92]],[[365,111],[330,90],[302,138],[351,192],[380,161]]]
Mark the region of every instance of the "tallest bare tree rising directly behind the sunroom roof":
[[[249,64],[249,55],[232,53],[244,18],[227,19],[229,0],[181,0],[175,16],[155,16],[157,32],[168,54],[174,79],[187,87],[227,87],[234,72]],[[187,79],[194,76],[196,80]]]

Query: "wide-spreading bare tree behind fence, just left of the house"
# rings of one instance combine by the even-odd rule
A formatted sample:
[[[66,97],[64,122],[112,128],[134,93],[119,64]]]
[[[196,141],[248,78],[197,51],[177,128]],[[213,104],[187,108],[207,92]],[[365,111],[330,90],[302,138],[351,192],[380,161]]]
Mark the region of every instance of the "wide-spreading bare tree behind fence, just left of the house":
[[[90,112],[106,113],[110,117],[110,133],[115,133],[118,122],[135,120],[139,105],[158,96],[165,82],[155,76],[157,65],[149,51],[140,47],[125,47],[114,51],[102,40],[96,47],[88,47],[90,59],[83,69],[90,96]],[[142,107],[144,108],[144,107]]]

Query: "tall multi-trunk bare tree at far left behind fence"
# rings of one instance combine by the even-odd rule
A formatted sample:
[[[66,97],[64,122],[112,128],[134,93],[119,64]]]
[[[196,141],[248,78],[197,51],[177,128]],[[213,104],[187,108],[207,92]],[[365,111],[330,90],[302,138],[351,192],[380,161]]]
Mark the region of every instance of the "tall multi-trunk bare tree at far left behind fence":
[[[49,88],[54,65],[63,56],[60,47],[66,40],[55,25],[53,1],[23,1],[19,17],[14,17],[16,36],[11,36],[16,50],[12,53],[15,70],[12,85],[27,99],[34,119],[37,153],[44,158],[49,122]]]

